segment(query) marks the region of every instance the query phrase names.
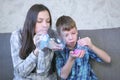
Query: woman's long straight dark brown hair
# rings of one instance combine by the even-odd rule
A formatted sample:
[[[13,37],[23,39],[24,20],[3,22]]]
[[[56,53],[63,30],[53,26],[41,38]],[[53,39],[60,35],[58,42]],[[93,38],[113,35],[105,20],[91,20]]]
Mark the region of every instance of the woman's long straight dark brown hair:
[[[21,31],[21,49],[19,56],[22,59],[25,59],[34,49],[35,45],[33,42],[33,37],[35,35],[35,24],[37,21],[37,16],[40,11],[48,11],[50,16],[50,26],[52,25],[51,14],[49,9],[42,4],[33,5],[26,16],[23,30]]]

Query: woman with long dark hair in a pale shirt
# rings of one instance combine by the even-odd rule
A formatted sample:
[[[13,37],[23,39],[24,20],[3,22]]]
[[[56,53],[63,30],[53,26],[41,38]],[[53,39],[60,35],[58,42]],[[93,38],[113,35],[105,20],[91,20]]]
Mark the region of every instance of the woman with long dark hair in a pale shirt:
[[[35,4],[27,13],[23,29],[12,33],[10,44],[14,80],[56,80],[56,75],[51,71],[50,66],[53,58],[52,50],[60,49],[60,46],[53,42],[55,45],[50,46],[50,49],[38,50],[36,47],[38,34],[51,36],[49,34],[51,22],[48,8],[42,4]],[[45,55],[40,56],[42,53]],[[44,65],[44,68],[41,66],[39,73],[38,64]]]

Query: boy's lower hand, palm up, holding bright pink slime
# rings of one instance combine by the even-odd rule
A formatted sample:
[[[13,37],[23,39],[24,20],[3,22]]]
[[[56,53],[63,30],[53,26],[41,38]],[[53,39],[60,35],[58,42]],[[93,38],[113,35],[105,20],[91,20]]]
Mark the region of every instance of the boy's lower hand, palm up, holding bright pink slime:
[[[70,51],[70,56],[73,58],[82,58],[85,55],[85,51],[84,50],[78,50],[75,49],[74,51]]]

